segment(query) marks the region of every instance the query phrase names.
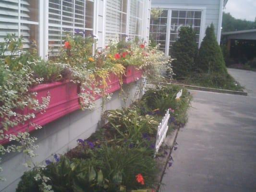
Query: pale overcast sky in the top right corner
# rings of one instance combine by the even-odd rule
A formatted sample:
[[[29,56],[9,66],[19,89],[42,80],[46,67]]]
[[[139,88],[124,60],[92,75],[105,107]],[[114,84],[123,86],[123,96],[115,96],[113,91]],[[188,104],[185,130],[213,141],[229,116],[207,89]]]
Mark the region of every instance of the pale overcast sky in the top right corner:
[[[236,19],[254,21],[256,17],[256,0],[229,0],[224,12],[230,12]]]

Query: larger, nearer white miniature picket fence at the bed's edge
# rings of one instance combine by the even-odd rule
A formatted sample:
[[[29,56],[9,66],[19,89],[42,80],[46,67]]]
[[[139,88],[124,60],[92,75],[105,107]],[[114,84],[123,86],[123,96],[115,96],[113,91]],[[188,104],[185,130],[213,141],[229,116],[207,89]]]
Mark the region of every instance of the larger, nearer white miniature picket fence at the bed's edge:
[[[155,144],[155,155],[154,155],[154,157],[156,157],[160,146],[162,145],[162,143],[164,142],[164,140],[166,138],[166,133],[168,131],[168,120],[169,120],[169,118],[170,118],[170,110],[168,109],[164,118],[162,119],[162,121],[158,125],[158,133],[157,133],[157,139],[156,139],[156,144]]]

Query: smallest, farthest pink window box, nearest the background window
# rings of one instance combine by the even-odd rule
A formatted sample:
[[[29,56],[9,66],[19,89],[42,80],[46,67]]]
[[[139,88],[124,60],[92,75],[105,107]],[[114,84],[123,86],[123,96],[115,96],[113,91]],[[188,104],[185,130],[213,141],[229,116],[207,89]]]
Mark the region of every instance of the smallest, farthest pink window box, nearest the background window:
[[[123,84],[130,84],[137,81],[137,79],[141,78],[142,72],[142,70],[136,69],[135,66],[126,67],[125,75],[122,76]]]

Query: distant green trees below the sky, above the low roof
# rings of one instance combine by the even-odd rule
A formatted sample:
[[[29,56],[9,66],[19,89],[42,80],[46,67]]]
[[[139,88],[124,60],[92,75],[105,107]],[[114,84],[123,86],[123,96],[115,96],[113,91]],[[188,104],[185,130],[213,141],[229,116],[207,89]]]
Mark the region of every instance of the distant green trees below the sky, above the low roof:
[[[256,28],[256,21],[235,19],[230,13],[223,12],[222,32],[239,31]]]

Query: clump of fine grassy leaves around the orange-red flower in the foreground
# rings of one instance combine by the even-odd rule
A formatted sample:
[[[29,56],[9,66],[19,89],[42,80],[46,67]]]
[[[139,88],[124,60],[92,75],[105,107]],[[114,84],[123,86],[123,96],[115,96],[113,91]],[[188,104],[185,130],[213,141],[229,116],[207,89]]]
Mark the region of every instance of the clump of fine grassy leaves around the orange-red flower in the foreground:
[[[156,161],[147,153],[146,148],[102,147],[99,158],[104,162],[101,165],[103,175],[110,181],[108,192],[119,192],[116,186],[120,184],[126,186],[127,191],[153,187]],[[145,186],[136,181],[139,173],[144,176]]]

